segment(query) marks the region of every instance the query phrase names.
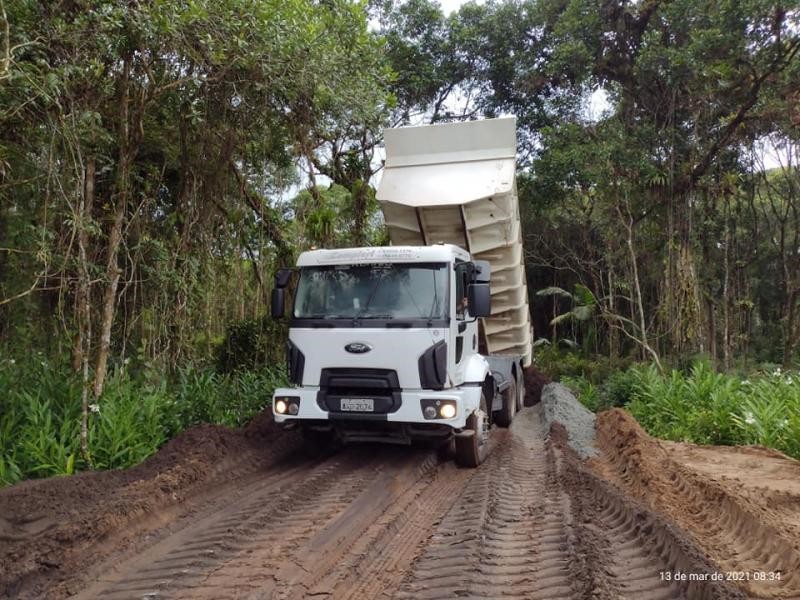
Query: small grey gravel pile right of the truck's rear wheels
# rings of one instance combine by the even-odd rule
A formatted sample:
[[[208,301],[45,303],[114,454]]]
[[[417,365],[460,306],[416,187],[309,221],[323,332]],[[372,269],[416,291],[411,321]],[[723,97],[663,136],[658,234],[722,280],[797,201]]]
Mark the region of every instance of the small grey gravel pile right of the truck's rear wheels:
[[[542,413],[545,427],[561,423],[567,430],[569,445],[582,457],[597,456],[594,447],[595,414],[581,404],[560,383],[548,383],[542,389]]]

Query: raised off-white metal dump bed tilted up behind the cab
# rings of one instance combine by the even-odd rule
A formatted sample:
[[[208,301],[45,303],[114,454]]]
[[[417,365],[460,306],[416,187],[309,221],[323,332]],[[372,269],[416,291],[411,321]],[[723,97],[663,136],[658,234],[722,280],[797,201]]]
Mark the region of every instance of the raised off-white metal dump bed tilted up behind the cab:
[[[492,266],[490,354],[531,362],[516,188],[516,119],[387,129],[378,186],[394,245],[456,244]]]

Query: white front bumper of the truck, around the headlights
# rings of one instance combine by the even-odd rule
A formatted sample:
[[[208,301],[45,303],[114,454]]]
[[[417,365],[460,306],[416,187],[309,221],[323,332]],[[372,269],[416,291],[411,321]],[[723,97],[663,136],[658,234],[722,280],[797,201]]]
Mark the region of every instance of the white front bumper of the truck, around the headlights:
[[[279,388],[272,397],[272,414],[276,423],[290,421],[371,421],[389,423],[411,423],[426,425],[446,425],[453,429],[462,429],[467,417],[480,405],[481,387],[462,386],[443,391],[412,390],[400,393],[400,407],[390,413],[333,412],[324,410],[317,403],[319,388]],[[296,415],[278,414],[275,412],[275,399],[294,397],[300,399],[300,407]],[[456,404],[456,414],[450,419],[426,419],[422,414],[422,400],[451,400]]]

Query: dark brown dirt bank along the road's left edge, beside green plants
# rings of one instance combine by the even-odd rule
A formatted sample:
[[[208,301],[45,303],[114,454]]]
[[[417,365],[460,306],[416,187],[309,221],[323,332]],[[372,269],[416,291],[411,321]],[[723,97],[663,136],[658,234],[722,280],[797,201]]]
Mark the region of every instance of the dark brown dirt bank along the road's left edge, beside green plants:
[[[187,498],[265,468],[295,443],[257,417],[243,430],[200,425],[141,465],[26,481],[0,490],[0,597],[74,576],[102,545],[156,529]],[[31,589],[31,587],[33,589]]]

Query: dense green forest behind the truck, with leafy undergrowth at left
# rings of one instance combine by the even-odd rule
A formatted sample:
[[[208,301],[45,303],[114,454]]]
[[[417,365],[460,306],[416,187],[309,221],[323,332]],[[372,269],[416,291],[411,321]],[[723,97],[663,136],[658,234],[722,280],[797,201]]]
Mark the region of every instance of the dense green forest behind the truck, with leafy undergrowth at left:
[[[388,126],[517,116],[543,368],[793,368],[799,53],[797,0],[0,0],[0,481],[268,402]]]

